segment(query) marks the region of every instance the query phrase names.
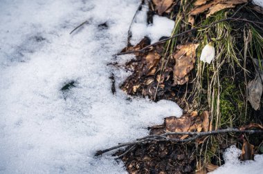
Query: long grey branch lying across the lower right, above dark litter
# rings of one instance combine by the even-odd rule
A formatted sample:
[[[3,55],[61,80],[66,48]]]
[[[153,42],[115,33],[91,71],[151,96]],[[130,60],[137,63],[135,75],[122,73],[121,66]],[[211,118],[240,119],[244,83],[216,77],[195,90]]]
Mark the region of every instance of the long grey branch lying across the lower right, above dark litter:
[[[161,135],[147,135],[145,137],[136,139],[133,142],[126,142],[126,143],[121,143],[118,144],[117,146],[113,146],[111,148],[107,148],[102,151],[97,151],[96,156],[102,155],[103,153],[107,153],[109,151],[113,151],[117,148],[121,148],[124,146],[132,146],[135,144],[141,144],[141,143],[148,143],[148,142],[190,142],[194,139],[197,139],[199,137],[204,137],[208,135],[215,135],[215,134],[220,134],[220,133],[248,133],[248,134],[263,134],[263,130],[239,130],[238,128],[226,128],[226,129],[221,129],[217,131],[208,131],[208,132],[179,132],[179,133],[163,133]],[[169,138],[167,137],[168,135],[194,135],[193,137],[189,137],[186,139],[179,139],[179,138]]]

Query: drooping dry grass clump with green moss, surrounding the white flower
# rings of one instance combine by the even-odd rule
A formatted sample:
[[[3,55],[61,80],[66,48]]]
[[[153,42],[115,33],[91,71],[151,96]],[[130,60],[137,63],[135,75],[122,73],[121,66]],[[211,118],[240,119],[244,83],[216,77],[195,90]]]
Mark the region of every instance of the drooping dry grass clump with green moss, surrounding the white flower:
[[[228,11],[221,10],[213,16],[201,21],[201,26],[226,19]],[[204,28],[197,33],[197,40],[201,41],[197,49],[197,77],[194,79],[195,103],[199,110],[210,110],[212,130],[239,126],[246,115],[246,99],[243,96],[244,85],[235,84],[237,70],[245,71],[242,66],[242,55],[235,46],[235,37],[230,23],[223,21],[214,27]],[[216,50],[216,57],[212,64],[200,61],[201,50],[212,41]],[[242,122],[243,124],[244,122]],[[217,158],[221,165],[219,139],[211,137],[204,142],[205,149],[199,153],[199,161],[203,164],[211,162],[211,157]],[[226,142],[231,141],[226,138]],[[201,151],[201,150],[200,150]]]

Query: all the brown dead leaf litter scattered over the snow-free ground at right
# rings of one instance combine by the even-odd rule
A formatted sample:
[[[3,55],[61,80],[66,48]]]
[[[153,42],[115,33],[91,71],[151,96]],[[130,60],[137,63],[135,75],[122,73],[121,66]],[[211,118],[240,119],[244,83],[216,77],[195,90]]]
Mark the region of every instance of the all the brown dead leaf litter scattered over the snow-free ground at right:
[[[154,8],[152,10],[155,10],[159,15],[166,15],[171,12],[171,7],[173,7],[174,10],[176,9],[176,6],[180,6],[180,3],[177,4],[176,1],[174,1],[174,3],[171,1],[153,1],[153,3]],[[227,10],[229,8],[234,9],[236,6],[244,3],[248,3],[248,1],[197,0],[194,2],[192,10],[188,12],[190,15],[189,19],[191,19],[191,23],[194,24],[194,16],[205,14],[205,18],[208,18],[221,10]],[[253,7],[255,11],[260,10],[258,6],[251,5],[251,7]],[[149,10],[150,9],[151,8],[149,8]],[[137,51],[134,52],[134,55],[136,56],[135,59],[132,59],[125,64],[125,68],[132,72],[132,74],[120,86],[125,93],[128,95],[149,97],[149,99],[154,101],[158,101],[159,99],[170,99],[176,101],[185,111],[185,114],[179,118],[174,116],[166,117],[163,124],[149,127],[150,135],[161,135],[168,132],[207,132],[212,130],[212,121],[209,111],[203,111],[201,114],[197,111],[191,112],[189,106],[185,107],[185,104],[183,104],[185,102],[190,104],[192,101],[191,97],[188,98],[187,101],[183,100],[185,100],[185,94],[188,94],[193,89],[192,80],[196,75],[194,67],[197,62],[197,48],[199,47],[199,43],[192,39],[192,35],[185,35],[185,37],[187,39],[179,37],[179,44],[174,48],[172,55],[167,56],[167,59],[164,54],[166,46],[164,43],[158,43],[155,46],[151,46],[148,50],[140,51],[142,48],[145,48],[145,46],[149,46],[151,41],[149,41],[149,38],[147,37],[141,40],[136,46],[127,46],[122,50],[122,52]],[[259,80],[256,82],[260,84]],[[248,97],[248,101],[251,101],[252,103],[252,100],[256,100],[256,108],[259,109],[261,95],[260,93],[255,92],[255,90],[262,90],[255,87],[255,83],[253,83],[253,85],[251,84],[251,82],[248,83],[248,95],[252,96],[253,93],[255,93],[253,96],[257,95],[257,97]],[[188,109],[185,110],[185,108]],[[248,124],[240,127],[240,130],[251,128],[262,128],[262,124]],[[180,139],[188,137],[188,135],[169,136]],[[226,137],[228,137],[228,135],[226,135]],[[206,141],[208,141],[206,138],[199,138],[196,139],[195,144],[197,144],[197,146],[203,146]],[[245,138],[239,139],[239,142],[243,144],[240,159],[253,160],[255,146],[249,144]],[[224,141],[221,141],[220,143],[220,151],[222,154],[231,143],[228,144]],[[179,161],[177,161],[177,164],[174,164],[170,163],[174,160],[172,157],[173,153],[170,151],[171,148],[173,151],[182,151],[183,148],[188,149],[193,148],[193,146],[191,144],[171,144],[162,142],[141,144],[136,145],[133,150],[127,152],[127,154],[122,157],[122,160],[125,162],[125,166],[129,173],[193,173],[196,161],[190,160],[189,153],[192,153],[193,155],[194,151],[188,151],[188,157],[186,157],[187,155],[185,155],[185,153],[177,154],[176,159]],[[122,153],[123,151],[118,151],[116,155]],[[156,160],[156,158],[158,160]],[[219,168],[219,161],[215,160],[212,163],[209,162],[204,166],[200,166],[200,168],[196,168],[196,172],[208,173],[217,171],[217,168]],[[181,165],[186,164],[190,165],[186,168],[181,168]],[[178,168],[180,168],[180,170],[177,170]]]

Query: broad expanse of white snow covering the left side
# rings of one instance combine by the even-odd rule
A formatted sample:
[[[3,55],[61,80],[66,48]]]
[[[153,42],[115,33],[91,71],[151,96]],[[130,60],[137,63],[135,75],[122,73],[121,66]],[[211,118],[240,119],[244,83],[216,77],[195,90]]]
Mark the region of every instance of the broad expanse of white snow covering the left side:
[[[139,3],[0,2],[0,173],[126,173],[111,153],[94,153],[147,135],[147,126],[164,117],[181,115],[172,101],[130,101],[118,88],[111,93],[111,73],[116,87],[129,73],[107,64],[133,57],[112,55],[125,47]],[[105,22],[108,28],[98,28]],[[166,24],[169,30],[160,26]],[[169,36],[172,26],[154,17],[142,32],[156,41]],[[75,88],[62,93],[71,81]]]

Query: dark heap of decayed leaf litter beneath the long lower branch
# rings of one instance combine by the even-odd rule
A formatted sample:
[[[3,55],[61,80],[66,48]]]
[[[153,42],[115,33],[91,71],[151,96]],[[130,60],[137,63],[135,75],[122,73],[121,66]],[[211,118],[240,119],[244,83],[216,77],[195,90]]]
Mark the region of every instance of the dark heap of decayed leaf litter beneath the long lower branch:
[[[194,153],[194,146],[159,142],[138,145],[122,160],[125,162],[127,171],[134,174],[193,173],[195,168]]]

